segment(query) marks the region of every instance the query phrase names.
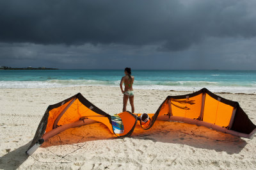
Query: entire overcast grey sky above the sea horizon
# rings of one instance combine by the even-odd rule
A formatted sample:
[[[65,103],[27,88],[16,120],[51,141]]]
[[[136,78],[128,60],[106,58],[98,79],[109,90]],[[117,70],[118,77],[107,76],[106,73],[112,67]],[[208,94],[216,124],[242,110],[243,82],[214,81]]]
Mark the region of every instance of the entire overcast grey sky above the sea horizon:
[[[256,1],[0,1],[0,66],[256,70]]]

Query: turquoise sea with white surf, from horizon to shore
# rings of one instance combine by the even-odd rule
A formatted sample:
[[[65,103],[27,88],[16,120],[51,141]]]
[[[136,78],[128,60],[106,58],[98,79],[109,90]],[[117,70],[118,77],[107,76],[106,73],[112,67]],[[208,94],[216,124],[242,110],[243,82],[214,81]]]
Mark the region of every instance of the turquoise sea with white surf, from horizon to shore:
[[[132,70],[134,89],[256,93],[256,71]],[[0,88],[118,87],[124,70],[0,70]]]

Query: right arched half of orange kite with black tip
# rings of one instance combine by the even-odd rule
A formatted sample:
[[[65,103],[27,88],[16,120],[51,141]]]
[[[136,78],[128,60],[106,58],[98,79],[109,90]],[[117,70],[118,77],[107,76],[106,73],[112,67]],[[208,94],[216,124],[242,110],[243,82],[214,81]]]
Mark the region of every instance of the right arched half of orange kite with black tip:
[[[204,125],[246,138],[256,132],[256,126],[238,102],[219,97],[206,88],[188,95],[168,96],[152,119]]]

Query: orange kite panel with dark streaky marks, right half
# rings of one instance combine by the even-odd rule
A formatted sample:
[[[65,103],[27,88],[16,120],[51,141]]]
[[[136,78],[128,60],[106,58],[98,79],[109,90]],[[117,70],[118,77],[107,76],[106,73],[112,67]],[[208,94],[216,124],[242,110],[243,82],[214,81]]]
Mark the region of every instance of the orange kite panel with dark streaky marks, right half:
[[[202,107],[202,94],[191,98],[173,99],[172,115],[185,118],[197,119]]]

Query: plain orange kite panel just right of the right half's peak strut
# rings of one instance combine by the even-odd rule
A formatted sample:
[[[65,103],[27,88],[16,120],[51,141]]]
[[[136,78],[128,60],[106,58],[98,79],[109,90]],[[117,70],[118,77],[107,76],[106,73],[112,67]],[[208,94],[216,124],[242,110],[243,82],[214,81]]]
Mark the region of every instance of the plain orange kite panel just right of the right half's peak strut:
[[[214,98],[206,94],[203,121],[206,121],[212,124],[215,123],[218,103],[219,103],[218,100],[215,100]]]

